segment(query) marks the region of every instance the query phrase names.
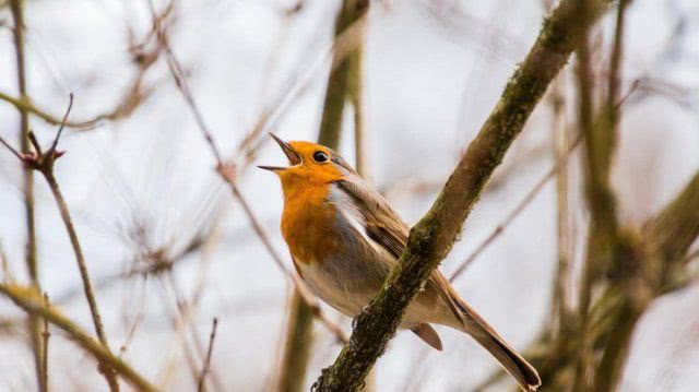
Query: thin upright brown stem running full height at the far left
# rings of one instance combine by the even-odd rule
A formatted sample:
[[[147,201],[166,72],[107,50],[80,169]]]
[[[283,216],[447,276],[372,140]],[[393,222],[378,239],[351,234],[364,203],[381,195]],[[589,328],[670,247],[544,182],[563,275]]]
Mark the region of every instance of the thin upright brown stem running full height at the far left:
[[[14,37],[14,54],[16,64],[16,78],[17,90],[22,99],[27,99],[26,91],[26,66],[24,58],[24,1],[12,0],[10,1],[10,10],[12,12],[12,19],[14,21],[13,37]],[[20,151],[23,154],[29,152],[29,116],[28,111],[24,108],[16,107],[20,112]],[[3,143],[7,144],[7,143]],[[8,145],[9,147],[9,145]],[[12,149],[10,149],[12,150]],[[29,282],[32,287],[37,292],[42,290],[38,277],[37,268],[37,251],[36,251],[36,215],[34,203],[34,170],[28,167],[23,168],[23,182],[24,182],[24,219],[26,223],[26,248],[25,248],[25,263],[29,275]],[[32,344],[32,354],[34,356],[34,370],[36,373],[36,383],[39,391],[46,391],[47,385],[44,383],[44,369],[42,369],[42,356],[43,346],[42,338],[39,336],[39,321],[33,316],[28,314],[27,326],[29,332],[29,343]]]

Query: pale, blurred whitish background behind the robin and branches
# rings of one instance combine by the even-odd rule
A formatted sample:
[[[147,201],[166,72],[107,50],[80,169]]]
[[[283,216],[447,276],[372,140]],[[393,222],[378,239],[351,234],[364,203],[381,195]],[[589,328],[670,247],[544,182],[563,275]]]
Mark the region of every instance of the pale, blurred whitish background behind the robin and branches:
[[[11,103],[21,95],[11,3],[0,0],[0,135],[19,147],[21,117]],[[69,117],[74,123],[60,140],[59,150],[67,153],[55,175],[111,349],[164,390],[191,391],[217,318],[210,390],[273,390],[292,286],[215,171],[216,161],[182,90],[191,93],[222,155],[236,165],[238,189],[292,270],[279,230],[281,187],[273,175],[250,164],[285,161],[268,131],[284,140],[318,138],[341,1],[21,3],[26,94],[33,107],[60,122],[69,93],[74,94]],[[364,171],[406,222],[415,223],[431,205],[550,5],[536,0],[371,2],[360,82]],[[641,227],[699,168],[699,1],[639,0],[626,16],[625,100],[612,185],[619,222]],[[614,23],[608,13],[591,35],[600,78],[606,72]],[[173,76],[173,59],[179,79]],[[574,139],[572,69],[538,104],[441,266],[449,276],[471,260],[454,286],[522,352],[533,349],[550,318],[559,253],[572,260],[573,276],[566,282],[571,290],[584,259],[589,214],[579,150],[568,157],[564,174],[565,219],[550,176],[508,219],[547,178],[561,134],[568,143]],[[337,149],[350,163],[357,155],[353,115],[352,107],[345,108]],[[58,126],[42,116],[28,119],[39,143],[49,145]],[[40,290],[93,333],[56,202],[40,175],[34,183]],[[0,276],[23,285],[31,281],[24,187],[16,157],[0,150]],[[503,230],[472,257],[498,227]],[[699,289],[691,284],[651,304],[633,331],[621,391],[697,390],[697,309]],[[323,310],[351,331],[348,319]],[[369,387],[466,391],[497,371],[496,361],[473,340],[437,329],[442,353],[399,333]],[[93,357],[57,328],[50,331],[51,389],[107,390]],[[37,388],[28,342],[25,313],[0,298],[0,390]],[[316,323],[304,389],[341,348]],[[502,379],[489,390],[508,388],[513,387]]]

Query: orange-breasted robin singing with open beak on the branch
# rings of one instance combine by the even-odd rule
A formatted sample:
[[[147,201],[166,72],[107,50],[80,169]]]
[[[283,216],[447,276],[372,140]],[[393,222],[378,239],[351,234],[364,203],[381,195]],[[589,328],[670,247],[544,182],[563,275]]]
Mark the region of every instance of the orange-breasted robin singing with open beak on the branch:
[[[398,262],[410,227],[333,150],[270,135],[286,155],[288,166],[258,167],[281,180],[281,231],[294,268],[317,297],[355,318]],[[471,335],[524,391],[541,385],[536,369],[459,296],[438,269],[408,306],[400,328],[442,351],[433,324]]]

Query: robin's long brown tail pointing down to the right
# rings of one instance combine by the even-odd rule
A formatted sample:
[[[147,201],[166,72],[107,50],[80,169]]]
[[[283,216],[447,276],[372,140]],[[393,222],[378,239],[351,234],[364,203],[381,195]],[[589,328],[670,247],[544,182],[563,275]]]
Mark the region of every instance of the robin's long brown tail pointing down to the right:
[[[536,391],[542,384],[536,369],[517,354],[478,313],[461,298],[454,298],[463,316],[463,332],[475,338],[517,380],[524,391]]]

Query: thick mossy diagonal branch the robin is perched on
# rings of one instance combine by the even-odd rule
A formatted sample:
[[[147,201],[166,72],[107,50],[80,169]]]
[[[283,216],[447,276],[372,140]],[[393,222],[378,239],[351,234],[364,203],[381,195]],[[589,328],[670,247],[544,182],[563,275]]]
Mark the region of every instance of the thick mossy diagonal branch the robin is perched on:
[[[449,253],[463,222],[512,141],[573,50],[571,1],[544,23],[476,139],[462,156],[429,212],[411,229],[407,246],[387,282],[357,317],[350,344],[318,379],[319,391],[356,391],[386,351],[402,316],[433,270]],[[595,9],[595,15],[604,7]]]

